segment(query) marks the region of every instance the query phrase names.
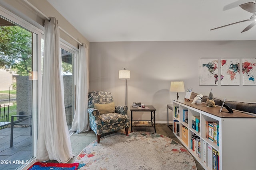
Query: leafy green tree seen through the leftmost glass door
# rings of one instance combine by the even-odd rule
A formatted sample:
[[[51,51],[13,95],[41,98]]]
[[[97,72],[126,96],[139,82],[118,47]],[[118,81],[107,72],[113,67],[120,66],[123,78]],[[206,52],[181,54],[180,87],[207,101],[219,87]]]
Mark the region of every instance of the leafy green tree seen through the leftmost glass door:
[[[0,27],[0,68],[28,76],[31,66],[32,33],[19,26]]]

